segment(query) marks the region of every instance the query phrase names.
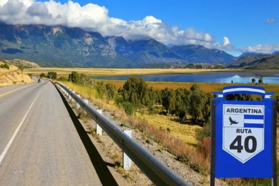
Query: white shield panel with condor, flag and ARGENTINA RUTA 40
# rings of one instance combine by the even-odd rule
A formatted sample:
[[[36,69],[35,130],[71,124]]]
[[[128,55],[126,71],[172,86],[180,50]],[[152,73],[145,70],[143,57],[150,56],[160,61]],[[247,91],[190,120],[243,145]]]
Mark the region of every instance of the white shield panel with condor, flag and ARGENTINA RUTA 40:
[[[242,163],[264,149],[264,105],[223,105],[223,149]]]

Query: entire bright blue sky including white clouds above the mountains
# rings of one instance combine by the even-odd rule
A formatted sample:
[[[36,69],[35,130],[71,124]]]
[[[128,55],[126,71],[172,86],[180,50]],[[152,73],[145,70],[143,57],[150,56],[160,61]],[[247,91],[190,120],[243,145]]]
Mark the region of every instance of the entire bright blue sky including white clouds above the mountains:
[[[9,24],[59,24],[233,55],[279,51],[278,10],[278,0],[0,0],[0,20]]]

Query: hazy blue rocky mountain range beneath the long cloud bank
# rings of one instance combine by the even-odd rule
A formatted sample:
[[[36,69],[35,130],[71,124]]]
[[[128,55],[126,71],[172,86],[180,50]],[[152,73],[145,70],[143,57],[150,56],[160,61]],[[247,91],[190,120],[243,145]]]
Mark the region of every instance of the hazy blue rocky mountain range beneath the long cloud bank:
[[[103,37],[80,28],[0,23],[0,58],[34,61],[41,67],[162,67],[229,63],[237,58],[201,45],[166,46],[154,39]]]

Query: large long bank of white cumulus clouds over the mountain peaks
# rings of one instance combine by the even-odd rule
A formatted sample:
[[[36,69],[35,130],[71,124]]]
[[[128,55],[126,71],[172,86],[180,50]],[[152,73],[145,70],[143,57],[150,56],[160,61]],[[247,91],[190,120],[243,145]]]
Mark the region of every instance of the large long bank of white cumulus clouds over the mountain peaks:
[[[155,39],[161,43],[197,44],[208,48],[231,47],[227,37],[224,37],[223,44],[219,44],[207,32],[197,32],[194,28],[179,30],[153,16],[125,21],[109,17],[108,13],[107,8],[91,3],[80,6],[72,1],[61,4],[52,0],[44,3],[35,0],[0,0],[0,21],[7,24],[63,25],[132,40]]]

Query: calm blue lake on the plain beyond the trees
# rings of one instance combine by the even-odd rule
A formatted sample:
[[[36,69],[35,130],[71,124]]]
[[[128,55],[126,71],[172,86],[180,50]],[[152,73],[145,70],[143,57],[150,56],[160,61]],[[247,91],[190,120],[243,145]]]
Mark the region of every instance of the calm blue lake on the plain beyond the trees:
[[[131,76],[98,76],[93,79],[128,80]],[[263,83],[279,84],[279,70],[263,71],[230,71],[230,72],[207,72],[187,74],[160,74],[160,75],[134,75],[145,81],[171,81],[171,82],[208,82],[208,83],[251,83],[252,78],[262,79]]]

